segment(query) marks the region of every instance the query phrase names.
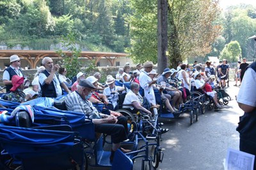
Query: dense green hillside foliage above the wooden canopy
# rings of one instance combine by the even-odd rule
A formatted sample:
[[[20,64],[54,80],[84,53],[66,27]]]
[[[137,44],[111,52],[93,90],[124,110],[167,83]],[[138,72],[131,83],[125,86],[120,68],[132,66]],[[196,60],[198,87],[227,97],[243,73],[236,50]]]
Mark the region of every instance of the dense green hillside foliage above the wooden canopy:
[[[0,40],[9,47],[49,49],[72,32],[89,50],[124,52],[130,45],[127,13],[127,3],[118,0],[2,0]],[[33,47],[35,40],[44,45]]]

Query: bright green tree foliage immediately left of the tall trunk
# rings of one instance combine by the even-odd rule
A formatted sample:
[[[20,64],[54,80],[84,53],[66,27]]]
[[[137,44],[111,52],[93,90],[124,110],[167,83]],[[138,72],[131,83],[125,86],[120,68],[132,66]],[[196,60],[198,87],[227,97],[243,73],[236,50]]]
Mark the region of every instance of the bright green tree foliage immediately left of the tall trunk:
[[[127,49],[136,63],[157,63],[157,1],[131,0],[131,48]]]

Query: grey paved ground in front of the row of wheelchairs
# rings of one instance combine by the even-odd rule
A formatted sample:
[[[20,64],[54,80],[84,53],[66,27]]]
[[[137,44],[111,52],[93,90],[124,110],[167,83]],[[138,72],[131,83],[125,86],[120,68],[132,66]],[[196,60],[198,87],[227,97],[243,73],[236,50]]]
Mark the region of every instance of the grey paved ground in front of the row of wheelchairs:
[[[243,111],[235,100],[239,87],[233,85],[234,82],[230,82],[230,88],[227,88],[227,93],[233,98],[228,104],[229,109],[207,111],[193,125],[189,123],[188,114],[175,120],[160,120],[170,131],[163,135],[164,159],[158,169],[223,169],[227,149],[239,149],[236,127]],[[135,162],[134,169],[140,169],[140,161]]]

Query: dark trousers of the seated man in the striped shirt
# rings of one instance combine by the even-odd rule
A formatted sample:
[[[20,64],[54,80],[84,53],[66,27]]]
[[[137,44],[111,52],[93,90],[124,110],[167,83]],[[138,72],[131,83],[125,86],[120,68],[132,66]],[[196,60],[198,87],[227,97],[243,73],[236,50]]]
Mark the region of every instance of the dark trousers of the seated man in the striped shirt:
[[[127,139],[127,121],[124,116],[119,116],[117,119],[118,121],[116,124],[95,124],[95,132],[111,135],[111,140],[113,143],[121,143],[122,141]]]

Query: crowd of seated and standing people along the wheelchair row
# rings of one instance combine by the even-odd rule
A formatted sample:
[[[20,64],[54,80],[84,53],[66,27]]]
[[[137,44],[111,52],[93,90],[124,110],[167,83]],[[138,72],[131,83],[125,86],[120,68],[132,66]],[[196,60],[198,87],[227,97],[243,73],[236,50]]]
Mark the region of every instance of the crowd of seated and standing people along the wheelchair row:
[[[195,61],[193,66],[179,62],[176,69],[165,68],[160,74],[153,69],[153,66],[152,61],[146,61],[143,65],[137,64],[136,70],[131,72],[131,67],[127,64],[124,68],[118,69],[115,78],[113,75],[108,75],[104,84],[99,82],[101,79],[99,72],[87,76],[85,73],[78,72],[77,81],[72,83],[66,77],[68,72],[66,68],[58,64],[54,65],[51,58],[45,57],[32,81],[33,89],[25,91],[20,59],[19,56],[13,55],[10,57],[10,66],[4,70],[3,82],[8,93],[7,100],[12,102],[26,102],[35,97],[35,94],[38,97],[56,98],[66,93],[65,104],[69,111],[83,112],[92,118],[96,132],[111,135],[112,160],[115,151],[120,148],[120,143],[129,139],[127,121],[122,114],[115,111],[120,93],[127,93],[124,105],[130,105],[150,118],[156,115],[159,109],[155,91],[160,93],[166,110],[174,115],[180,114],[180,105],[186,102],[191,91],[197,89],[211,96],[215,107],[221,108],[214,88],[218,85],[225,87],[226,83],[228,86],[227,60],[220,61],[217,68],[214,68],[211,61],[207,61],[205,65],[197,64]],[[237,70],[237,79],[243,80],[246,66],[248,64],[244,58]],[[116,81],[129,83],[130,88],[116,86]],[[144,97],[139,92],[141,90]],[[145,101],[150,107],[144,105]],[[105,104],[109,115],[97,111],[93,104]],[[163,130],[163,133],[166,131]]]

